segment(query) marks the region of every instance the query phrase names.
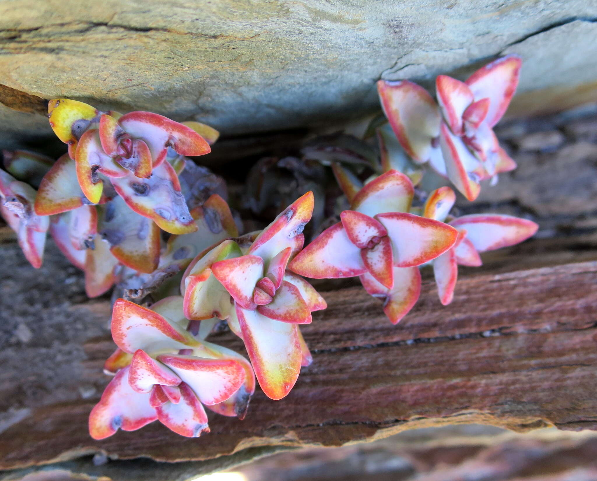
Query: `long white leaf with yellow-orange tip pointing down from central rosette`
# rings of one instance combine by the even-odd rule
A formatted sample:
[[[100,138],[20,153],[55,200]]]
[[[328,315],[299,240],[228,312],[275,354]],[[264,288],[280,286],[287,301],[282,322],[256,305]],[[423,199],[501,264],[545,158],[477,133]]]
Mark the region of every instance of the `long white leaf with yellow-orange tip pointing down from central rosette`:
[[[263,392],[282,399],[293,388],[302,362],[298,326],[236,308],[247,353]]]

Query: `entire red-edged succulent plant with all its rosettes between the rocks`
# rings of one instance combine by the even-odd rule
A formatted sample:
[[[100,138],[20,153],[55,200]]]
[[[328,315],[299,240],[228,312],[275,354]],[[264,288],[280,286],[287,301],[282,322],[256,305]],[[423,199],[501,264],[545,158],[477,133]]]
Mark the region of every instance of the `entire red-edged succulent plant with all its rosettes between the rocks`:
[[[374,175],[364,177],[358,141],[346,135],[303,150],[307,161],[331,165],[346,198],[336,205],[348,207],[304,248],[311,191],[265,229],[242,236],[217,180],[197,195],[206,174],[188,157],[210,152],[219,136],[213,128],[51,100],[50,125],[68,153],[54,162],[4,151],[0,213],[33,267],[42,264],[49,231],[84,271],[90,297],[115,284],[122,295],[112,312],[117,348],[104,364],[113,378],[91,411],[91,436],[155,420],[199,436],[209,431],[204,406],[244,418],[256,379],[266,396],[282,399],[312,362],[299,326],[326,307],[303,277],[358,276],[398,323],[419,297],[421,267],[432,267],[447,305],[458,265],[480,266],[479,252],[533,236],[537,224],[523,218],[451,215],[456,193],[446,185],[472,201],[480,181],[494,183],[516,167],[492,128],[520,66],[508,55],[466,82],[441,75],[437,103],[413,82],[379,81],[385,119],[374,119],[365,135],[376,132],[379,156],[365,162]],[[285,162],[298,171],[304,161]],[[170,234],[165,243],[161,230]],[[222,321],[249,360],[207,341]]]

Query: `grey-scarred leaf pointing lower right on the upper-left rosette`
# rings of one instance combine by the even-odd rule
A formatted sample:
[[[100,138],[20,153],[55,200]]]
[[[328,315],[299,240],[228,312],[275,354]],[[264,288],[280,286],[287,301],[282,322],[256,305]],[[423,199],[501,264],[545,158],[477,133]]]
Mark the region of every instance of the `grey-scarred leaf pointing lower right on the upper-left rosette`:
[[[168,162],[154,168],[150,178],[138,178],[130,172],[126,177],[110,180],[133,211],[153,220],[162,230],[171,234],[197,230],[180,193],[179,179]]]

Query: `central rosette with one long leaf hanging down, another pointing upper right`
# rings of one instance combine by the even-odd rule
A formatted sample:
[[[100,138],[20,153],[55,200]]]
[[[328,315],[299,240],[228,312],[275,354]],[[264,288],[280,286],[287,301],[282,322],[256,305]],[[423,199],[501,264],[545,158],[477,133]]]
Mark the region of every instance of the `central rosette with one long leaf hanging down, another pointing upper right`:
[[[306,280],[287,272],[303,246],[313,212],[307,192],[260,233],[227,239],[199,254],[187,268],[181,290],[187,319],[227,319],[245,343],[261,389],[281,399],[296,383],[310,354],[298,325],[325,309]]]

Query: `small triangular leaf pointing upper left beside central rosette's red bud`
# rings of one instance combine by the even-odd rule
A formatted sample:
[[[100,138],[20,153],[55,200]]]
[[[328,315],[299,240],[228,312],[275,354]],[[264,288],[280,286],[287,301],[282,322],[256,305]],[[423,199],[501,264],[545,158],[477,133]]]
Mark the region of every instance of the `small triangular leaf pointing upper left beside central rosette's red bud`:
[[[253,291],[257,281],[263,277],[263,259],[261,257],[243,255],[217,261],[212,264],[211,272],[237,303],[245,309],[255,309]]]

